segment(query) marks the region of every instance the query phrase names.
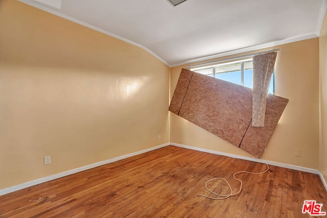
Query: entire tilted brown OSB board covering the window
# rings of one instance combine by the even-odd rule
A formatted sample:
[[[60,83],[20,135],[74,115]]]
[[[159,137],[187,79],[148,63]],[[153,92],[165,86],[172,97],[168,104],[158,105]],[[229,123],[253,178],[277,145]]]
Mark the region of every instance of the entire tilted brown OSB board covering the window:
[[[252,127],[252,90],[182,69],[169,110],[260,158],[287,99],[268,95],[265,127]]]

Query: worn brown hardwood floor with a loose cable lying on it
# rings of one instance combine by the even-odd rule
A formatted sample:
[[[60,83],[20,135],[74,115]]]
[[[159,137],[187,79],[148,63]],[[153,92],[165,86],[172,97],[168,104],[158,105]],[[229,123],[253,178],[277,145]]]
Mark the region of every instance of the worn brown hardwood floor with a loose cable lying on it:
[[[305,200],[327,211],[318,175],[272,165],[265,174],[239,174],[238,196],[197,197],[209,194],[209,179],[224,177],[236,192],[240,183],[233,173],[265,169],[262,163],[168,146],[1,196],[0,217],[312,217],[301,212]],[[223,182],[209,185],[228,193]]]

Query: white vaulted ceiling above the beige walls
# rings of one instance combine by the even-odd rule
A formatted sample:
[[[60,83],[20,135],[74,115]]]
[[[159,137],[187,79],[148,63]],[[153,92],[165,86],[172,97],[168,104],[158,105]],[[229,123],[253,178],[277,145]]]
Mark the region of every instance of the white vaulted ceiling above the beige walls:
[[[142,47],[169,66],[317,37],[327,5],[327,0],[188,0],[176,7],[166,0],[19,1]]]

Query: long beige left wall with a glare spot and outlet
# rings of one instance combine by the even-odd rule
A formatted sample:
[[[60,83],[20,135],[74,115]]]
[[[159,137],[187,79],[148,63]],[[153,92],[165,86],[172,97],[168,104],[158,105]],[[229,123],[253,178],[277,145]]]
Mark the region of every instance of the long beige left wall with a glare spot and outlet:
[[[1,0],[0,189],[169,142],[169,71],[139,47]]]

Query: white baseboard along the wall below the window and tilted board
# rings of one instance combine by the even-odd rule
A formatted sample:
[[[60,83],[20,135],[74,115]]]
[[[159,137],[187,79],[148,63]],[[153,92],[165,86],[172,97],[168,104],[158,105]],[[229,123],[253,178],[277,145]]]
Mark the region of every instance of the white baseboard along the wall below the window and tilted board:
[[[229,154],[229,153],[224,153],[224,152],[218,152],[218,151],[213,151],[213,150],[207,150],[207,149],[200,149],[192,146],[185,146],[184,144],[177,144],[177,143],[170,143],[173,146],[185,148],[185,149],[192,149],[196,151],[201,151],[201,152],[207,152],[211,154],[218,154],[226,157],[232,157],[232,158],[237,158],[237,159],[242,159],[242,160],[249,160],[253,162],[258,162],[258,163],[267,163],[268,165],[273,165],[273,166],[281,166],[289,169],[295,169],[297,171],[303,171],[307,173],[312,173],[312,174],[317,174],[319,175],[318,169],[312,169],[312,168],[307,168],[307,167],[302,167],[302,166],[295,166],[291,164],[286,164],[286,163],[279,163],[279,162],[274,162],[270,160],[262,160],[262,159],[257,159],[257,158],[252,158],[252,157],[244,157],[241,155],[235,155],[235,154]]]

